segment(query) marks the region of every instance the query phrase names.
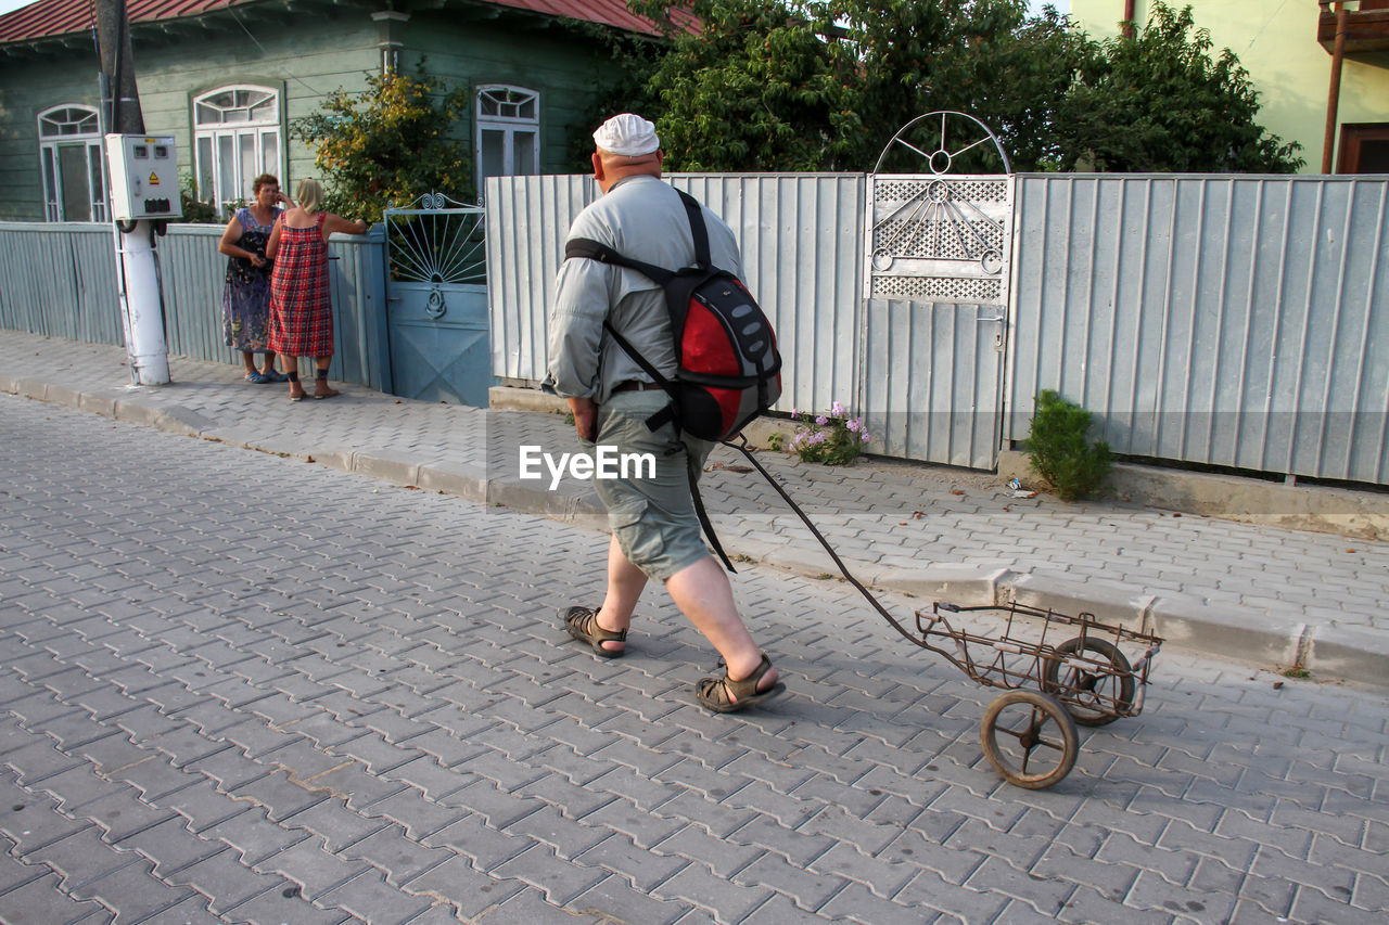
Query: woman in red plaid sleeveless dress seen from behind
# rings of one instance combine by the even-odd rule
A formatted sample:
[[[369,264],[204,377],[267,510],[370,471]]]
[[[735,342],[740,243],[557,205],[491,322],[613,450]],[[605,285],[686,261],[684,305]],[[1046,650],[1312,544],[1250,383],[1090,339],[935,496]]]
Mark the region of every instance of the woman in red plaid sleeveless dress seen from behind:
[[[308,178],[294,193],[299,206],[283,212],[265,243],[267,260],[275,261],[269,281],[269,336],[267,346],[279,354],[289,374],[289,400],[304,397],[299,382],[299,358],[314,357],[314,397],[331,399],[328,364],[333,356],[333,307],[328,290],[328,236],[333,232],[361,235],[367,222],[347,221],[319,210],[324,188]]]

